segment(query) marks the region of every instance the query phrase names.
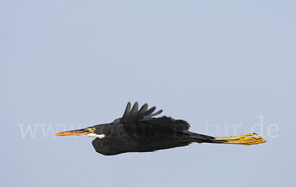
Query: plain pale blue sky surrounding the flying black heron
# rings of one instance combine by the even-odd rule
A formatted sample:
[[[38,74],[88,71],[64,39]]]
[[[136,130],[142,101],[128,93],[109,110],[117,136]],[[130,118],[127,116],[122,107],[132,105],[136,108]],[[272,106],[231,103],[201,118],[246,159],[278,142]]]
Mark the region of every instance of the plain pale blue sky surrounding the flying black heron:
[[[295,8],[293,0],[1,0],[1,187],[294,186]],[[234,134],[232,124],[249,133],[262,115],[255,131],[268,141],[103,156],[92,138],[52,136],[109,123],[128,101],[211,136]],[[268,134],[270,124],[278,131]]]

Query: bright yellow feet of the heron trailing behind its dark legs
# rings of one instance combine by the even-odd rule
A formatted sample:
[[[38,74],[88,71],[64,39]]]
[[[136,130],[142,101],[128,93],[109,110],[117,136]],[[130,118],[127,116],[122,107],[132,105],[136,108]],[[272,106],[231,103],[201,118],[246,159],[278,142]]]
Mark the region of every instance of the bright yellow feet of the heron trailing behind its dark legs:
[[[231,136],[231,137],[215,137],[215,140],[226,140],[222,141],[221,143],[227,143],[227,144],[243,144],[243,145],[253,145],[258,143],[264,143],[266,142],[265,139],[263,139],[260,136],[254,137],[254,135],[257,135],[256,133],[249,133],[241,136]]]

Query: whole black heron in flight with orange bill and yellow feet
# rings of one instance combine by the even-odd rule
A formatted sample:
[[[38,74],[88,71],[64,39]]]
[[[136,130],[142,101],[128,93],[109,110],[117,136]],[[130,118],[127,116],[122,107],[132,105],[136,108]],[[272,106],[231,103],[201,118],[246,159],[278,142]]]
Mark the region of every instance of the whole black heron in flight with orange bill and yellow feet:
[[[190,125],[184,120],[166,116],[153,117],[162,112],[159,110],[153,113],[155,109],[155,106],[148,109],[148,104],[144,104],[138,110],[138,102],[135,102],[131,109],[131,103],[128,102],[122,118],[115,119],[112,123],[57,133],[55,136],[78,135],[96,138],[92,145],[98,153],[104,155],[150,152],[186,146],[192,142],[244,145],[266,142],[256,133],[231,137],[211,137],[193,133],[188,131]]]

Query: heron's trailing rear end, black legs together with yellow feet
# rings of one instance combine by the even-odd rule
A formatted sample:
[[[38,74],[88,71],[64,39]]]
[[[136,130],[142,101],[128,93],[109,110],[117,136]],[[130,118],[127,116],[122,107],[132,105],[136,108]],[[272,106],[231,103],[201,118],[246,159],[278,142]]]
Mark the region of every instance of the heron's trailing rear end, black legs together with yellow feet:
[[[241,136],[231,136],[231,137],[210,137],[206,135],[195,134],[195,142],[198,143],[226,143],[226,144],[243,144],[243,145],[253,145],[266,142],[261,136],[257,136],[256,133],[249,133]],[[256,135],[256,136],[254,136]]]

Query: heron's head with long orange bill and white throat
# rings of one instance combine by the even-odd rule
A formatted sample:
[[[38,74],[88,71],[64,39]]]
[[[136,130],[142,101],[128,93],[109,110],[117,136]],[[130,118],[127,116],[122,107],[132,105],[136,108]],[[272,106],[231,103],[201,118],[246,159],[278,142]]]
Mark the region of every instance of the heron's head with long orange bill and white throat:
[[[54,136],[86,136],[86,137],[93,137],[93,138],[105,138],[104,134],[99,133],[98,125],[92,126],[92,127],[87,127],[85,129],[79,129],[79,130],[74,130],[74,131],[66,131],[62,133],[57,133]]]

